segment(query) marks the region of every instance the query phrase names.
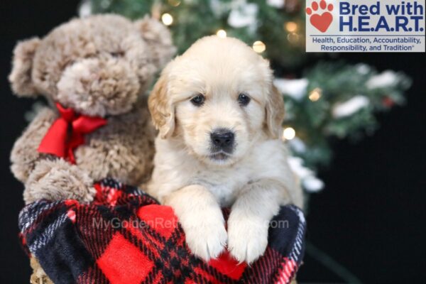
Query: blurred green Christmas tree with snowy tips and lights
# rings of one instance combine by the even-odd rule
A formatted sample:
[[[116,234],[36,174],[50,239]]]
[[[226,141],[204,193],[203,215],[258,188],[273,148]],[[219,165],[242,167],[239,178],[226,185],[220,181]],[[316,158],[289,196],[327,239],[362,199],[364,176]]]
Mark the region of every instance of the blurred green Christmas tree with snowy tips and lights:
[[[244,40],[271,60],[275,85],[283,93],[286,117],[283,140],[293,156],[290,165],[306,192],[322,190],[318,167],[332,158],[329,138],[359,138],[377,127],[376,111],[403,104],[410,79],[374,67],[327,60],[305,53],[305,1],[298,0],[86,0],[80,16],[147,14],[170,27],[178,53],[204,35]],[[324,55],[324,54],[322,54]],[[317,65],[301,72],[307,60]],[[293,79],[290,79],[293,78]]]

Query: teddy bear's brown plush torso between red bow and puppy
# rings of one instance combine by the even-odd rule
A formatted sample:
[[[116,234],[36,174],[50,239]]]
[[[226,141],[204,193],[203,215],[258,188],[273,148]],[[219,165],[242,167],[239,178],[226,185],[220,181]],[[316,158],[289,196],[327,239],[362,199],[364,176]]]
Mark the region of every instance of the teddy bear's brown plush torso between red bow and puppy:
[[[108,176],[129,185],[147,182],[156,134],[148,117],[143,99],[128,114],[109,118],[107,126],[87,135],[86,144],[77,148],[77,165],[94,180]]]

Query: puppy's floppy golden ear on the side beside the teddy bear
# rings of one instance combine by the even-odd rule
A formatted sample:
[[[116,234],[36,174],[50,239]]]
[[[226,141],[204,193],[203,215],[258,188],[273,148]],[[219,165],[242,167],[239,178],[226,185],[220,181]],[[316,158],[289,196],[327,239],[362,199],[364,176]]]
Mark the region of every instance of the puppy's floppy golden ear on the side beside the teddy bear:
[[[153,91],[148,98],[148,108],[155,128],[160,131],[160,137],[168,138],[172,136],[175,130],[175,107],[168,94],[164,72],[155,83]]]

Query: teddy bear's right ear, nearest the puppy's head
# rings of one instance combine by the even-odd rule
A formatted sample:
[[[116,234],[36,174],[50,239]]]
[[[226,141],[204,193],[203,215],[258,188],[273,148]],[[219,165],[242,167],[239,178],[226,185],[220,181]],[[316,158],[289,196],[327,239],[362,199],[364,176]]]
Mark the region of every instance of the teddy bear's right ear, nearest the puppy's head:
[[[173,45],[172,35],[163,23],[146,16],[134,23],[140,31],[141,36],[151,48],[153,62],[156,67],[161,68],[175,55],[176,48]]]

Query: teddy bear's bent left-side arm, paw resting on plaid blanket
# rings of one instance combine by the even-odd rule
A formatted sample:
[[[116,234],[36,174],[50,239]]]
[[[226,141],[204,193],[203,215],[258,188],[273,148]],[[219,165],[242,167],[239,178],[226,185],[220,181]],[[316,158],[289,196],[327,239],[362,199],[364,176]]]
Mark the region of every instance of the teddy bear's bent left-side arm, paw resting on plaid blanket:
[[[11,170],[25,184],[26,204],[41,199],[90,202],[96,193],[92,178],[77,165],[37,151],[57,117],[53,109],[41,109],[13,146]]]

